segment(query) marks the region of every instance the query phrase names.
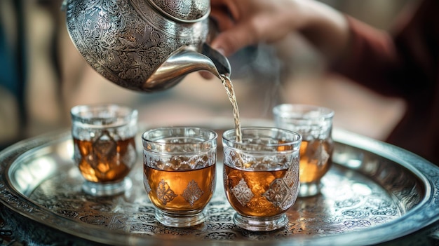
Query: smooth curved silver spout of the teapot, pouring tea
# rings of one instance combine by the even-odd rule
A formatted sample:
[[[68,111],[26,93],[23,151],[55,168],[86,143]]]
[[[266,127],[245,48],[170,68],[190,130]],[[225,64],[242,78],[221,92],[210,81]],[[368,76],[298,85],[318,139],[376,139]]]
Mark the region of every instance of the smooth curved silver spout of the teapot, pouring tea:
[[[142,90],[147,92],[166,90],[179,83],[185,75],[201,70],[210,71],[220,79],[221,75],[231,74],[229,60],[207,43],[203,43],[201,53],[189,46],[182,46],[149,76]]]

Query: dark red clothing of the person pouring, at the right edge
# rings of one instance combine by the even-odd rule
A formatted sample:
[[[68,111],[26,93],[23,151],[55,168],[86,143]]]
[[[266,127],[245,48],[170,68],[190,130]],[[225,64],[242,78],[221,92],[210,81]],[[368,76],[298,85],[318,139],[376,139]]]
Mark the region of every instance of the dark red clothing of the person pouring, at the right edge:
[[[334,71],[377,93],[403,98],[406,110],[386,142],[439,165],[439,1],[419,1],[394,35],[348,17],[349,52]]]

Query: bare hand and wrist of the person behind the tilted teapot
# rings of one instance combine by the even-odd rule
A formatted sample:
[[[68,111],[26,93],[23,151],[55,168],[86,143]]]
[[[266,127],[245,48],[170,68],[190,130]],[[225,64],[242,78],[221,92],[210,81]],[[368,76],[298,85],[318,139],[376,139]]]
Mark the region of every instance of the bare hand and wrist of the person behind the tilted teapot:
[[[337,60],[349,43],[342,13],[314,0],[211,0],[210,17],[219,34],[210,46],[226,57],[245,46],[273,43],[292,32],[302,34],[316,50]],[[212,78],[201,73],[205,78]]]

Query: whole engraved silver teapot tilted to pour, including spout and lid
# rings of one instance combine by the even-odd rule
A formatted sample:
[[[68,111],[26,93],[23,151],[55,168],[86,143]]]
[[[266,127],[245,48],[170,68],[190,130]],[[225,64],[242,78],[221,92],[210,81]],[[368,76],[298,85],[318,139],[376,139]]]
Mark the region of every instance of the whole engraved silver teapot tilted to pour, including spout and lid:
[[[65,0],[67,30],[93,69],[130,90],[154,92],[193,71],[229,76],[208,46],[210,0]]]

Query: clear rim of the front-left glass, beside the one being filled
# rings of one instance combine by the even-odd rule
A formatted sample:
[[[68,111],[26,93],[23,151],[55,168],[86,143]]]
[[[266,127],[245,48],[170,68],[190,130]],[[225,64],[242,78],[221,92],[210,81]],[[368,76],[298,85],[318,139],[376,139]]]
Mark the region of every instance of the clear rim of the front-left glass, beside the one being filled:
[[[206,142],[212,142],[213,140],[216,140],[218,137],[218,133],[215,132],[215,130],[211,130],[208,128],[201,128],[201,127],[193,127],[193,126],[165,126],[165,127],[159,127],[159,128],[152,128],[149,129],[145,132],[142,133],[142,141],[144,142],[149,142],[151,144],[158,144],[158,145],[174,145],[174,146],[179,146],[179,145],[184,145],[184,144],[189,144],[189,143],[168,143],[168,142],[160,142],[158,141],[158,139],[156,140],[151,140],[151,139],[147,139],[146,135],[151,134],[152,132],[157,132],[157,131],[163,131],[163,130],[183,130],[183,129],[194,129],[197,131],[203,131],[203,132],[208,132],[210,133],[210,136],[208,137],[208,139],[201,139],[199,142],[196,142],[196,144],[203,144]],[[177,136],[169,136],[169,137],[194,137],[194,136],[187,136],[187,135],[177,135]],[[161,138],[163,139],[163,138]],[[216,143],[216,141],[215,141]],[[194,144],[194,143],[190,143],[190,144]]]

